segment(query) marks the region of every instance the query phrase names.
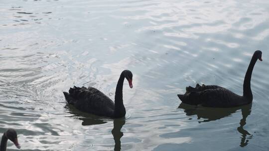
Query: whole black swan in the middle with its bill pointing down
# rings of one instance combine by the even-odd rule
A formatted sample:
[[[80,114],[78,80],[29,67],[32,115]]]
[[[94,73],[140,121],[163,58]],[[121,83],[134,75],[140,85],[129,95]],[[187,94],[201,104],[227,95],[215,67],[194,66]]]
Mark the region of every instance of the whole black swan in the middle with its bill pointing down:
[[[68,104],[74,105],[78,110],[91,114],[106,116],[111,118],[121,118],[126,114],[123,103],[123,83],[124,78],[133,88],[133,74],[129,70],[122,72],[117,83],[115,92],[115,103],[104,93],[94,87],[70,87],[69,93],[63,92]]]

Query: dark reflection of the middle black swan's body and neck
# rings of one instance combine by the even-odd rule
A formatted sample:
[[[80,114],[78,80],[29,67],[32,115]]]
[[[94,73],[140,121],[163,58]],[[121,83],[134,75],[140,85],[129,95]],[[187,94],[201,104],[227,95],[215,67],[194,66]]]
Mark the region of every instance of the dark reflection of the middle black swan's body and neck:
[[[81,125],[83,125],[83,126],[104,124],[104,123],[107,123],[107,121],[108,121],[108,119],[104,119],[104,120],[100,119],[100,116],[81,112],[72,105],[66,105],[66,108],[67,108],[69,113],[73,114],[72,116],[69,116],[69,117],[78,117],[79,120],[83,121],[81,123]],[[121,132],[121,129],[124,126],[124,124],[125,124],[125,118],[114,119],[114,121],[113,121],[114,127],[113,127],[111,133],[112,133],[114,141],[115,141],[114,151],[121,151],[121,138],[124,135],[123,132]]]

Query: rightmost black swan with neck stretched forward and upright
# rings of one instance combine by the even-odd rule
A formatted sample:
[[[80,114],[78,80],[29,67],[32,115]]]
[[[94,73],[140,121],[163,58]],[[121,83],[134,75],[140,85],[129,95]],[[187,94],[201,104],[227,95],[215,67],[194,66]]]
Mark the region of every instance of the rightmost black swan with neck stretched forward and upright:
[[[252,103],[253,95],[251,91],[251,75],[257,60],[262,60],[262,52],[255,51],[244,79],[243,96],[217,85],[196,84],[196,87],[186,87],[185,94],[178,94],[179,99],[186,104],[202,105],[205,107],[236,107]]]

